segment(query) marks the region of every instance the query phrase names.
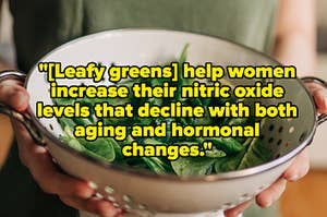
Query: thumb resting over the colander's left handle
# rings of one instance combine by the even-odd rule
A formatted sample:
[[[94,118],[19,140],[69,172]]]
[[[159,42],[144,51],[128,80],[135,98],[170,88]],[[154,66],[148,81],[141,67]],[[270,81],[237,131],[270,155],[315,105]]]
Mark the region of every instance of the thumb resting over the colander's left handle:
[[[0,103],[17,111],[24,111],[28,106],[28,98],[26,89],[19,82],[4,81],[0,83]]]

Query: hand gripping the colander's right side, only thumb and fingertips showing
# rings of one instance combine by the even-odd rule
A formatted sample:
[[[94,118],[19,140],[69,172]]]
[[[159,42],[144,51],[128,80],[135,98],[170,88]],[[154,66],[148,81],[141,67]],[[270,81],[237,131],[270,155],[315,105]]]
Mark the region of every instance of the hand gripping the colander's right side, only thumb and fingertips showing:
[[[306,83],[306,87],[313,95],[315,104],[319,113],[327,113],[327,88],[315,83]],[[304,149],[300,155],[298,155],[283,173],[283,176],[272,183],[268,189],[263,191],[256,196],[256,204],[265,208],[270,206],[274,202],[278,201],[286,189],[288,181],[294,182],[303,178],[310,169],[310,157],[307,150]],[[249,206],[251,202],[245,202],[234,208],[225,212],[226,217],[237,217],[242,214]]]

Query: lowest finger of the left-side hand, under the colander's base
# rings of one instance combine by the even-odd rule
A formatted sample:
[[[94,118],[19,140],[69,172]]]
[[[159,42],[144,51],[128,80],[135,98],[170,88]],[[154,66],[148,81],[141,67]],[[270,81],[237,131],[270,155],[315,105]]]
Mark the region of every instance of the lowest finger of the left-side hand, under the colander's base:
[[[102,201],[97,197],[82,200],[73,196],[60,196],[60,198],[62,202],[74,208],[86,210],[104,217],[116,217],[122,213],[120,208],[116,208],[110,202]]]

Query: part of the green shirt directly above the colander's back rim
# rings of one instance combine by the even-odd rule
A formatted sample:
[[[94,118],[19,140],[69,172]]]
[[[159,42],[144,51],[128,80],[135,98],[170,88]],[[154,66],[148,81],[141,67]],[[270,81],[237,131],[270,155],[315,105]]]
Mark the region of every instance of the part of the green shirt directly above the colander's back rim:
[[[11,0],[17,63],[100,31],[145,27],[189,31],[269,51],[278,0]]]

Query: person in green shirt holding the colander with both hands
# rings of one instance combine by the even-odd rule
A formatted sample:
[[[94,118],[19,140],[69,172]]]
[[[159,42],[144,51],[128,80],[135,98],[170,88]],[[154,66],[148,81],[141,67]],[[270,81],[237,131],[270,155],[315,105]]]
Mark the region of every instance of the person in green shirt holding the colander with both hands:
[[[312,0],[11,0],[10,8],[14,19],[17,67],[23,71],[28,71],[55,47],[83,35],[122,27],[162,27],[229,38],[271,53],[282,63],[296,65],[300,76],[313,72],[315,24]],[[26,108],[28,97],[23,87],[13,82],[3,83],[1,87],[0,101],[20,111]],[[311,91],[319,111],[326,112],[326,89],[313,85]],[[0,180],[4,183],[1,184],[2,192],[15,191],[1,198],[0,216],[77,215],[51,194],[59,195],[63,203],[77,209],[101,216],[120,215],[121,210],[109,202],[92,197],[94,190],[87,183],[61,173],[47,150],[34,144],[20,124],[13,121],[13,126],[19,150],[13,146]],[[17,152],[34,180],[48,194],[39,190],[28,170],[17,162]],[[262,207],[270,206],[283,192],[287,181],[296,181],[307,170],[308,157],[303,152],[280,180],[257,195],[256,203]],[[12,180],[20,180],[20,185],[13,186]],[[19,198],[23,202],[17,204]],[[20,208],[10,208],[11,204]],[[247,206],[249,203],[244,203],[227,210],[226,215],[237,216]]]

